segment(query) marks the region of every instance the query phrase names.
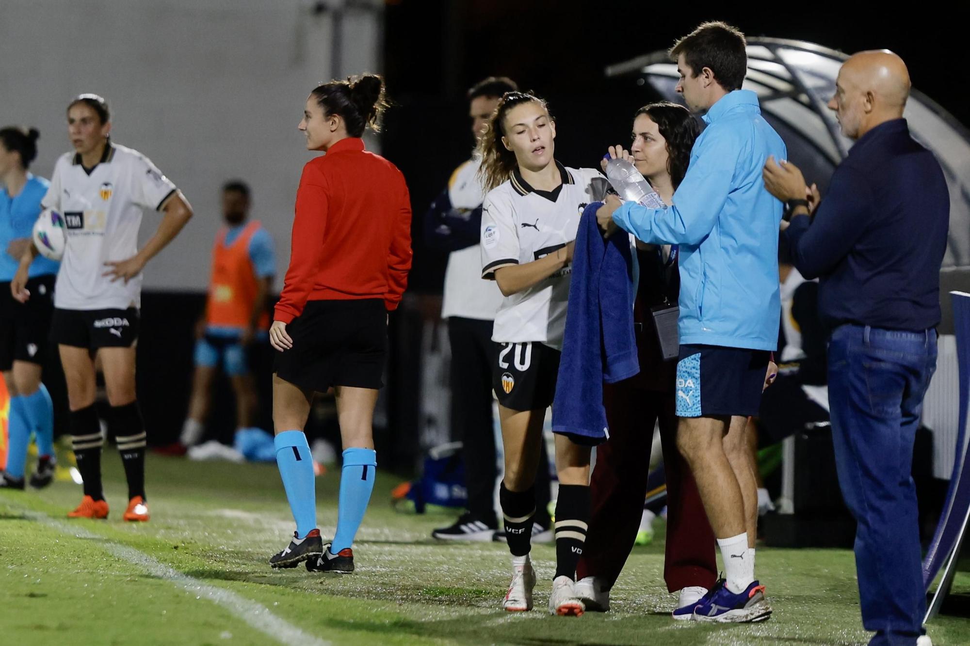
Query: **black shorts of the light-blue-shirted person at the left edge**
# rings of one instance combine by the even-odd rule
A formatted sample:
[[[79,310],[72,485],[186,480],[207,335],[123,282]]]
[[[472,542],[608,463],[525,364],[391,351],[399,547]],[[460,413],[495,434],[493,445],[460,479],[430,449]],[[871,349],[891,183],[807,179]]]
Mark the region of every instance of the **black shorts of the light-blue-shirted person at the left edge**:
[[[10,282],[0,282],[0,371],[11,370],[15,361],[43,364],[46,360],[56,278],[49,274],[27,280],[26,303],[14,299]]]

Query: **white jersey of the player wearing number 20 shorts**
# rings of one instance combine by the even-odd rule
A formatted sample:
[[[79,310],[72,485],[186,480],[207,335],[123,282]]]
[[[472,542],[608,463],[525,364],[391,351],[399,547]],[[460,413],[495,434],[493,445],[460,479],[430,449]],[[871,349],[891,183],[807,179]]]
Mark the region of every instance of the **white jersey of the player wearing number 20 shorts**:
[[[562,185],[554,191],[533,189],[516,169],[512,178],[489,191],[482,208],[482,277],[509,265],[525,265],[555,253],[576,239],[579,217],[602,199],[606,179],[591,168],[559,166]],[[502,299],[492,330],[498,342],[539,341],[563,347],[568,266],[532,287]]]

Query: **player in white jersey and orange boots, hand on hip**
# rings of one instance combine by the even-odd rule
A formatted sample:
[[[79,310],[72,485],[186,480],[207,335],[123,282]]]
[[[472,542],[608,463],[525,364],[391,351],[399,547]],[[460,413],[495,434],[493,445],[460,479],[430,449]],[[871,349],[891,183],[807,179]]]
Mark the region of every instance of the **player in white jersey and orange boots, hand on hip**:
[[[110,404],[108,430],[117,442],[128,480],[126,521],[148,520],[145,496],[146,433],[135,400],[135,344],[138,339],[142,270],[176,237],[192,209],[175,184],[142,153],[113,144],[108,104],[81,94],[67,109],[74,152],[54,165],[46,209],[64,216],[67,245],[54,286],[50,340],[58,344],[70,431],[84,497],[72,518],[107,518],[101,489],[104,437],[94,410],[95,358],[101,361]],[[155,235],[138,248],[144,210],[164,213]],[[27,272],[37,255],[31,244],[11,281],[24,303]]]

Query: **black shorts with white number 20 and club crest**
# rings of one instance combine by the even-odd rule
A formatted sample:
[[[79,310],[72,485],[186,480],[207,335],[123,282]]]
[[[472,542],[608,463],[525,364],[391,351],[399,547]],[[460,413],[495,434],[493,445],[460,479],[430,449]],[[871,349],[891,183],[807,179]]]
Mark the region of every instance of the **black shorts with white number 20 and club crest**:
[[[562,352],[538,341],[495,343],[492,387],[499,404],[512,410],[541,410],[556,397]]]

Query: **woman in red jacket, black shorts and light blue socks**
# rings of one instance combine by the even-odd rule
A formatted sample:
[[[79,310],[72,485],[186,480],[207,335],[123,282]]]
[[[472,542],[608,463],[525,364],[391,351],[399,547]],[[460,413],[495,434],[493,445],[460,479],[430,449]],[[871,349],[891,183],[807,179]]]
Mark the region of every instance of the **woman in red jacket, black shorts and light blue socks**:
[[[366,74],[316,87],[300,130],[307,149],[297,191],[293,248],[270,341],[276,464],[297,530],[270,565],[351,572],[350,546],[371,500],[372,417],[387,348],[387,312],[411,267],[411,207],[404,176],[364,149],[387,106],[384,82]],[[337,396],[343,470],[337,533],[324,549],[316,529],[313,467],[304,435],[314,392]]]

